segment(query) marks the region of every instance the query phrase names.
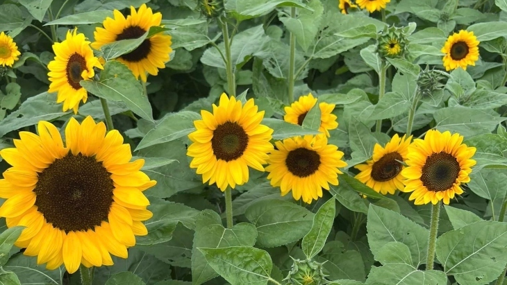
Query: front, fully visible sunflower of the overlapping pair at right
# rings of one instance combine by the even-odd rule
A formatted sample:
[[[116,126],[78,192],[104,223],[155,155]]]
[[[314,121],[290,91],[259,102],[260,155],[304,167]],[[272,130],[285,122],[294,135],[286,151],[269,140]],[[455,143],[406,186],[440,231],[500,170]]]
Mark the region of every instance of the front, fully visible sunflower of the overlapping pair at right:
[[[415,200],[415,205],[440,200],[449,204],[456,194],[463,193],[460,184],[470,181],[476,148],[462,141],[458,134],[429,130],[424,140],[415,139],[408,147],[408,167],[401,171],[405,188],[401,191],[412,192],[408,199]]]

